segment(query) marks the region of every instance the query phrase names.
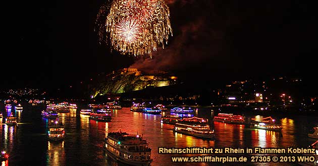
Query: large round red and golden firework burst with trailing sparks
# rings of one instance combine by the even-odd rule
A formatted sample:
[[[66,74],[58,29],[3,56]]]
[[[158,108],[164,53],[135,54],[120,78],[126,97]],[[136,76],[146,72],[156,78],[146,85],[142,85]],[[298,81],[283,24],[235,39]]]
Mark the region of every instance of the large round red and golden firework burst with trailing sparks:
[[[164,48],[172,35],[170,11],[164,0],[114,0],[108,8],[102,6],[97,23],[100,40],[106,36],[114,49],[135,56],[151,56],[152,50],[158,45]]]

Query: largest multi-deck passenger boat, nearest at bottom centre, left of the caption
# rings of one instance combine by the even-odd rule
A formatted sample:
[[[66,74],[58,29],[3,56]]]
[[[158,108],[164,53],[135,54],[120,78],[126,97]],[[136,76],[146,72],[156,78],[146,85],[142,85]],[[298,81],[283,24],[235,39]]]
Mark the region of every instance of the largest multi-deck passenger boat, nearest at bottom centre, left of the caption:
[[[138,133],[108,133],[103,148],[110,157],[124,164],[149,165],[152,162],[149,143]]]

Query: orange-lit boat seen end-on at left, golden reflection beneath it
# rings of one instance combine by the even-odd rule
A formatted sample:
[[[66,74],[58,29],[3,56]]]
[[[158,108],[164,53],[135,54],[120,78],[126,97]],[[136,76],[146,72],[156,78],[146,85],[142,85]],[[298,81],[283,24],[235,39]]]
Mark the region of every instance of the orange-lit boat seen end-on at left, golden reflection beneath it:
[[[48,125],[48,139],[52,141],[61,141],[65,138],[64,125],[58,121],[51,122]]]

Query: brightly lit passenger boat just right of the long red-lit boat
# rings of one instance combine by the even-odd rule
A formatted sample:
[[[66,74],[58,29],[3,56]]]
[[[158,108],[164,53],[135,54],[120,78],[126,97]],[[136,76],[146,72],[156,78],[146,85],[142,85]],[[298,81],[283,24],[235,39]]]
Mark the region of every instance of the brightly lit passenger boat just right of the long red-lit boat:
[[[281,131],[282,126],[275,124],[275,119],[272,117],[267,118],[252,118],[252,122],[250,124],[250,128],[255,129],[263,129],[263,130],[271,130],[271,131]]]

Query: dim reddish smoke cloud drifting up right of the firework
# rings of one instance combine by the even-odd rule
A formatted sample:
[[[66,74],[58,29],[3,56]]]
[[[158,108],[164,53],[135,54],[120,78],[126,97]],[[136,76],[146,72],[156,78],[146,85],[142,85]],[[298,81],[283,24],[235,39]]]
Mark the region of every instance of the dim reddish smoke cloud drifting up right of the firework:
[[[196,2],[169,0],[173,37],[165,49],[157,48],[152,58],[140,57],[130,67],[140,68],[149,73],[182,71],[200,65],[222,50],[223,31],[213,25],[215,14],[209,1]],[[199,11],[201,8],[200,12]],[[203,10],[202,10],[203,9]]]

